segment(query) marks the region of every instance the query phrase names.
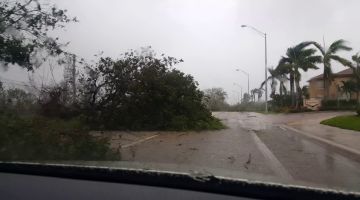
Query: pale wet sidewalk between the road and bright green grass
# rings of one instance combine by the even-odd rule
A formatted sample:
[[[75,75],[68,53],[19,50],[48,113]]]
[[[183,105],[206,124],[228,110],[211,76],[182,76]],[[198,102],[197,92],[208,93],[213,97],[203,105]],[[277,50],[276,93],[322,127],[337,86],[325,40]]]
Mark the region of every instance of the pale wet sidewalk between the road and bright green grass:
[[[352,113],[347,113],[352,114]],[[324,139],[330,143],[339,144],[340,146],[353,149],[360,152],[360,132],[337,127],[322,125],[322,120],[331,118],[339,114],[329,113],[329,116],[320,116],[313,119],[304,119],[300,121],[289,122],[286,125],[300,130],[312,136]]]

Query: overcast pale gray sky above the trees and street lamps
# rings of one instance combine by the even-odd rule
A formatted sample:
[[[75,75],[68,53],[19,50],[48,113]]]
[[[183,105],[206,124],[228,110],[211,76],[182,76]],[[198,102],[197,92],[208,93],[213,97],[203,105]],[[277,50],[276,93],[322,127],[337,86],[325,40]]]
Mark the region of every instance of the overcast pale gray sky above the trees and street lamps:
[[[247,88],[241,68],[250,73],[250,88],[264,80],[264,39],[242,24],[268,34],[268,66],[275,66],[286,49],[306,40],[326,44],[337,39],[360,51],[359,0],[58,0],[79,23],[59,32],[68,49],[86,59],[104,51],[116,57],[129,49],[151,45],[184,59],[177,66],[192,74],[200,88],[223,87],[234,102],[234,82]],[[344,69],[334,63],[335,71]],[[61,76],[60,69],[55,70]],[[322,71],[303,73],[305,83]],[[38,70],[45,74],[44,70]],[[25,74],[25,75],[24,75]],[[21,80],[26,72],[11,69],[1,77]]]

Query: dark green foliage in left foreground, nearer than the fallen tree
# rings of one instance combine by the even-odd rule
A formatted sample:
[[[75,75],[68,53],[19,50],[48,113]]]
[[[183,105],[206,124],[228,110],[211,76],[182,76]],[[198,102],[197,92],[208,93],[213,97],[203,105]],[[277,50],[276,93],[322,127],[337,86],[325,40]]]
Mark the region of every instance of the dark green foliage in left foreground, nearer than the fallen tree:
[[[0,160],[109,160],[116,155],[94,139],[81,119],[0,115]]]

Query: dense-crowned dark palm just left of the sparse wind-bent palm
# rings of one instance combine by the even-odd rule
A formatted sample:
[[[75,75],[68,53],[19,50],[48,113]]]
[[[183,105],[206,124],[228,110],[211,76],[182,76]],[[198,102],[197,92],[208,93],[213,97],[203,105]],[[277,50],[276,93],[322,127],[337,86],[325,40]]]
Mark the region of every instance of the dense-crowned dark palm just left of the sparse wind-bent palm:
[[[290,47],[286,51],[286,56],[283,56],[279,61],[279,70],[287,71],[290,74],[290,90],[292,94],[292,105],[294,100],[296,108],[300,108],[301,95],[301,73],[308,69],[318,69],[317,63],[321,63],[321,56],[314,55],[316,49],[307,48],[311,42],[302,42],[294,47]],[[294,84],[296,86],[296,94],[294,92]],[[296,97],[296,98],[295,98]]]

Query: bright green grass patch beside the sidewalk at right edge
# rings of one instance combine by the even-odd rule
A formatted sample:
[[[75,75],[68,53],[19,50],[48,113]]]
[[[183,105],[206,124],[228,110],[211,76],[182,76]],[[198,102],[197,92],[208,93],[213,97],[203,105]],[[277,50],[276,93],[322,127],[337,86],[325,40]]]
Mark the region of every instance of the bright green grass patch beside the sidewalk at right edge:
[[[357,115],[337,116],[326,119],[320,123],[342,129],[360,131],[360,116]]]

